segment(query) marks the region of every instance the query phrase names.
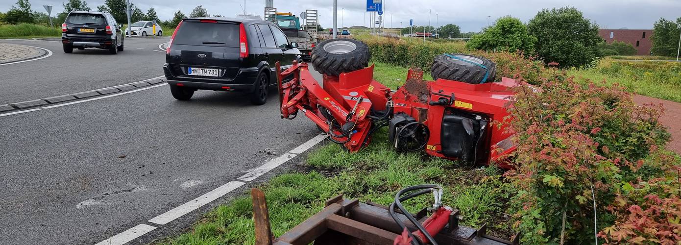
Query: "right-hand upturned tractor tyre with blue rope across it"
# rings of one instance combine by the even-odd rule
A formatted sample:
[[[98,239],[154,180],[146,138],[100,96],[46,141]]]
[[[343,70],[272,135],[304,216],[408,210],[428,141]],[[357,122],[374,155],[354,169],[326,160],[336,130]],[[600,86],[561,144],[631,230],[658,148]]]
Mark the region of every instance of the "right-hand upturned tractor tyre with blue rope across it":
[[[458,59],[452,58],[445,54],[435,58],[432,63],[432,68],[430,69],[430,76],[432,76],[433,80],[442,78],[445,80],[454,80],[469,84],[494,82],[494,78],[496,78],[496,65],[492,63],[492,61],[481,56],[473,56],[469,54],[450,55]],[[487,69],[480,67],[479,65],[483,65],[487,67]],[[489,71],[487,80],[483,81],[487,71]]]

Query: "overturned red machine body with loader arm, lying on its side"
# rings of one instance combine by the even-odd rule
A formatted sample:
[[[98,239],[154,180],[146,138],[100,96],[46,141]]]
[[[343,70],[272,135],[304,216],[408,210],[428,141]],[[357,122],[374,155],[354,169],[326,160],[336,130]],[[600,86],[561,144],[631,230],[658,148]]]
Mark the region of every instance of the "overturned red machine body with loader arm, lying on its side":
[[[330,140],[356,152],[370,143],[371,134],[389,126],[394,147],[466,163],[497,163],[515,150],[505,126],[492,127],[508,116],[508,88],[516,81],[470,84],[438,78],[423,80],[423,71],[410,69],[396,91],[373,80],[373,65],[339,76],[323,74],[320,83],[307,63],[281,71],[279,101],[282,118],[299,112],[310,118]],[[282,82],[290,79],[288,82]]]

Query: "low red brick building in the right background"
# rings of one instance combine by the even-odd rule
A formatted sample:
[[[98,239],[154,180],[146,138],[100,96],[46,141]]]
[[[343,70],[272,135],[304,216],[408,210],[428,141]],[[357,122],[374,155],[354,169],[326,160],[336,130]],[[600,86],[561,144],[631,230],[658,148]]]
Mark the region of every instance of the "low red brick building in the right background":
[[[652,30],[601,29],[599,30],[599,35],[608,44],[615,40],[626,42],[638,50],[637,55],[650,55],[650,48],[652,48],[650,36],[652,36]]]

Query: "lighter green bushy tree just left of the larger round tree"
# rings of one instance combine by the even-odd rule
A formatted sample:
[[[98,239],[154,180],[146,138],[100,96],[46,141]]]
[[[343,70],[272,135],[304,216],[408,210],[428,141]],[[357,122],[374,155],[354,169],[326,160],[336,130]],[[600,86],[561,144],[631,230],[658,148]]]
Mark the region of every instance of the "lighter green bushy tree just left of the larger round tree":
[[[498,50],[532,52],[537,42],[527,31],[520,19],[511,16],[498,18],[494,25],[483,30],[482,34],[473,35],[466,47],[477,50]]]

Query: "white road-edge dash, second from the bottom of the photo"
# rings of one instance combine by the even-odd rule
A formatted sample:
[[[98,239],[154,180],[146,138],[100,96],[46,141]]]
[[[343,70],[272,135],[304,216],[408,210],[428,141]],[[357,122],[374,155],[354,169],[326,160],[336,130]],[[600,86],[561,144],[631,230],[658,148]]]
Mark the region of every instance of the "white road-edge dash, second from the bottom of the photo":
[[[151,220],[149,220],[149,222],[157,223],[159,225],[168,224],[170,223],[170,221],[175,220],[176,218],[180,218],[181,216],[188,214],[189,212],[196,210],[197,208],[200,208],[201,206],[204,206],[210,203],[211,201],[215,201],[215,199],[222,197],[223,195],[229,193],[230,191],[234,191],[235,189],[239,188],[244,184],[246,183],[240,181],[227,182],[227,184],[223,184],[222,186],[212,191],[209,191],[208,193],[200,197],[197,197],[196,199],[188,201],[187,203],[180,205],[177,208],[173,208],[168,212],[165,212],[159,216],[152,218]]]

